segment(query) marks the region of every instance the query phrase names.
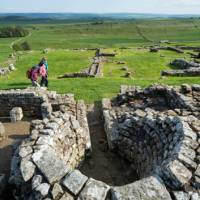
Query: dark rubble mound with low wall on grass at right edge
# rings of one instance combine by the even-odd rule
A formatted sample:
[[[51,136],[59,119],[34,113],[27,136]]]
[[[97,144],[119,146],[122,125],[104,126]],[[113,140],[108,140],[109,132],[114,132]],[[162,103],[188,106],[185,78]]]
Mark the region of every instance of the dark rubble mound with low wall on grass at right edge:
[[[170,63],[177,70],[164,70],[162,76],[200,76],[200,64],[185,59],[175,59]]]

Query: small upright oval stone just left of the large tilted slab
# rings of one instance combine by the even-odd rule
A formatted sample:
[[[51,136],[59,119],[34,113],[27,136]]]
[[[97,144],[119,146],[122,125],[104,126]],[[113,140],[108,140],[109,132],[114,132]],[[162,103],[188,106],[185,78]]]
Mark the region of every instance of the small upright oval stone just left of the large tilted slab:
[[[20,164],[20,170],[25,182],[29,181],[35,173],[35,165],[28,160],[22,160]]]

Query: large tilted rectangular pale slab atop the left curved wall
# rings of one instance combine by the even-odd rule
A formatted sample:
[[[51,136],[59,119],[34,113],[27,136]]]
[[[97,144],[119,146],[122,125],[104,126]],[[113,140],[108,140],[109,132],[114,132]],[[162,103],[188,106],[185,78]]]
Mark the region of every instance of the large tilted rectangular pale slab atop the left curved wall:
[[[32,158],[51,184],[59,181],[69,172],[67,165],[52,148],[38,151],[33,154]]]

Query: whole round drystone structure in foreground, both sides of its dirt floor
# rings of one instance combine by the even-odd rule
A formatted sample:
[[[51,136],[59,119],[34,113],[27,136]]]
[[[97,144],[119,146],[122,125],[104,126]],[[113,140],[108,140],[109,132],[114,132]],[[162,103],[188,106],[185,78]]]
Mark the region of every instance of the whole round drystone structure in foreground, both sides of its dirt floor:
[[[37,97],[31,110],[40,119],[32,121],[30,137],[12,159],[9,183],[16,199],[199,199],[200,85],[122,86],[116,98],[103,99],[109,148],[129,160],[140,176],[119,187],[78,170],[91,152],[83,101],[32,89],[20,93]],[[29,115],[21,98],[14,106]]]

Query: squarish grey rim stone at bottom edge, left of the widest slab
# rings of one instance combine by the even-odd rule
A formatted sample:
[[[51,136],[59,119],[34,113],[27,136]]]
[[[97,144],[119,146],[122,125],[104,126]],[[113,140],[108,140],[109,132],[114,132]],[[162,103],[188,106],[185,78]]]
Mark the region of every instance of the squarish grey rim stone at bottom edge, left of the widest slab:
[[[79,195],[80,200],[105,200],[110,187],[101,181],[92,178],[88,180]]]

